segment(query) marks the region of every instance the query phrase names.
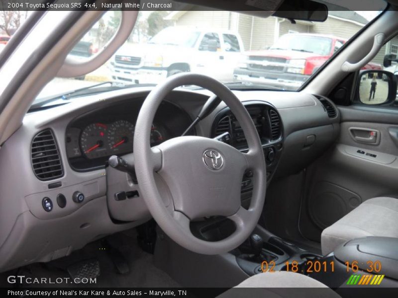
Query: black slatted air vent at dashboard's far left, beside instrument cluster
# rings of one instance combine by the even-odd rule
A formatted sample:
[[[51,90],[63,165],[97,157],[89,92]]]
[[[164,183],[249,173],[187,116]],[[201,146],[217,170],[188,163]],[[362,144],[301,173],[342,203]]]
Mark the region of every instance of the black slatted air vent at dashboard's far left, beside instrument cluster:
[[[30,147],[34,174],[42,181],[62,177],[64,171],[54,135],[47,129],[32,140]]]

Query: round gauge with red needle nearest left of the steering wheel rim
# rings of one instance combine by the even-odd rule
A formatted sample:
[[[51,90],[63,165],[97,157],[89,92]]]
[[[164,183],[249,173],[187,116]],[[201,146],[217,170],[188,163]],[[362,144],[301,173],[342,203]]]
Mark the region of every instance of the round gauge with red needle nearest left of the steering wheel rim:
[[[108,146],[113,154],[132,152],[134,124],[126,120],[113,122],[108,130]]]

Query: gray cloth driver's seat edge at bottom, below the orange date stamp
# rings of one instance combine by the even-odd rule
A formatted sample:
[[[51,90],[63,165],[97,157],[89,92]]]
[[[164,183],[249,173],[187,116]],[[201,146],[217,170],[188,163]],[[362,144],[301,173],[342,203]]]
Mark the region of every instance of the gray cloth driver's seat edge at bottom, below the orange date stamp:
[[[251,288],[251,289],[247,289]],[[340,298],[324,284],[299,273],[278,271],[249,277],[217,298]]]

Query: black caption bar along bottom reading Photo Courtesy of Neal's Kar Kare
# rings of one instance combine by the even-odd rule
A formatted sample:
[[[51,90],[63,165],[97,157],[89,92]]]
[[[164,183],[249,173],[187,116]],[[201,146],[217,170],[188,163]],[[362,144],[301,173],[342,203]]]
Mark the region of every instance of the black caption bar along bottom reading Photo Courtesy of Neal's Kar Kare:
[[[338,288],[342,298],[397,297],[397,288]],[[30,288],[0,289],[1,297],[31,298],[230,298],[230,297],[331,297],[329,288]],[[336,295],[337,297],[337,295]]]

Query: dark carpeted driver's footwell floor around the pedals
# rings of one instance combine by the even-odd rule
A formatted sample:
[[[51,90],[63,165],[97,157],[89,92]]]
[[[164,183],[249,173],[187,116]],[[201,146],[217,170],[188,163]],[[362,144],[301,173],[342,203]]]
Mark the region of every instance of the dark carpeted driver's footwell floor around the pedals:
[[[112,237],[118,237],[119,251],[127,261],[130,271],[127,274],[117,274],[112,259],[107,252],[108,247],[102,241],[96,241],[86,245],[83,249],[73,252],[70,256],[49,263],[36,263],[19,269],[18,275],[26,278],[51,278],[53,284],[32,284],[24,282],[19,287],[181,287],[168,274],[155,267],[153,255],[144,252],[137,245],[136,233],[133,230],[118,233]],[[95,284],[73,284],[71,280],[65,282],[69,275],[66,268],[77,262],[97,258],[100,262],[100,276]],[[15,274],[12,273],[12,274]],[[4,274],[4,280],[10,273]],[[57,280],[58,279],[58,280]],[[57,283],[56,281],[61,281]],[[32,281],[31,280],[31,281]],[[4,285],[2,285],[4,286]],[[9,286],[9,285],[8,285]]]

